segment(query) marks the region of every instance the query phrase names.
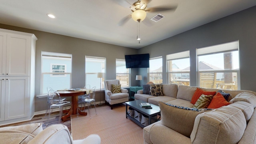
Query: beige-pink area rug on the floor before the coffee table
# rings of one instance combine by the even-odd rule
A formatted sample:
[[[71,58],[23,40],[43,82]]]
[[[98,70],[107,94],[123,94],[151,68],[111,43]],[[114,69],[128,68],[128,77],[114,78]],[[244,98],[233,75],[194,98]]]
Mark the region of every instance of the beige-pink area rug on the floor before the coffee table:
[[[87,116],[72,116],[71,129],[73,140],[98,134],[101,144],[143,144],[143,129],[129,118],[126,118],[125,105],[120,104],[110,109],[102,106],[90,110],[91,119]]]

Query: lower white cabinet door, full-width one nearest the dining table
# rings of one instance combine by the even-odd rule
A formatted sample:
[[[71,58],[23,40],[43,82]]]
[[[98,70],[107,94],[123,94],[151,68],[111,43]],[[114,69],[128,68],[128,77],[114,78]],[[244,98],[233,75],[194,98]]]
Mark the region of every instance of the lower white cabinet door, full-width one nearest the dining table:
[[[28,76],[6,76],[5,120],[28,116]]]

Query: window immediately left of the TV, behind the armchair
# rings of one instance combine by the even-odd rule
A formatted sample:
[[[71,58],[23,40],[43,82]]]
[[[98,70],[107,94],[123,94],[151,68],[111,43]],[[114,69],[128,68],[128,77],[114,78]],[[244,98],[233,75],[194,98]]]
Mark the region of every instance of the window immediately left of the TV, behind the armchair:
[[[120,80],[121,87],[130,86],[130,68],[126,68],[125,60],[116,59],[116,79]]]

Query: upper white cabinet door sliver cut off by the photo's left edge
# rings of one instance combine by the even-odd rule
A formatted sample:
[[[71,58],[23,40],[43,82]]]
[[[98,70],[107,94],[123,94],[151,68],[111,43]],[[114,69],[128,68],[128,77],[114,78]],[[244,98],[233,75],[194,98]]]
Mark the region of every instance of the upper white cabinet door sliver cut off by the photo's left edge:
[[[0,32],[0,76],[6,74],[6,36],[6,33]]]

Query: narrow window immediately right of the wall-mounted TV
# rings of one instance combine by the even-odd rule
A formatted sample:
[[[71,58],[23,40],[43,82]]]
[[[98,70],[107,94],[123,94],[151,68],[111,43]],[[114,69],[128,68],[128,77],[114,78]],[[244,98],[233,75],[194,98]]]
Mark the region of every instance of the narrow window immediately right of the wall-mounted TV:
[[[149,59],[148,78],[150,82],[153,82],[154,84],[163,83],[162,68],[163,68],[162,56]]]

